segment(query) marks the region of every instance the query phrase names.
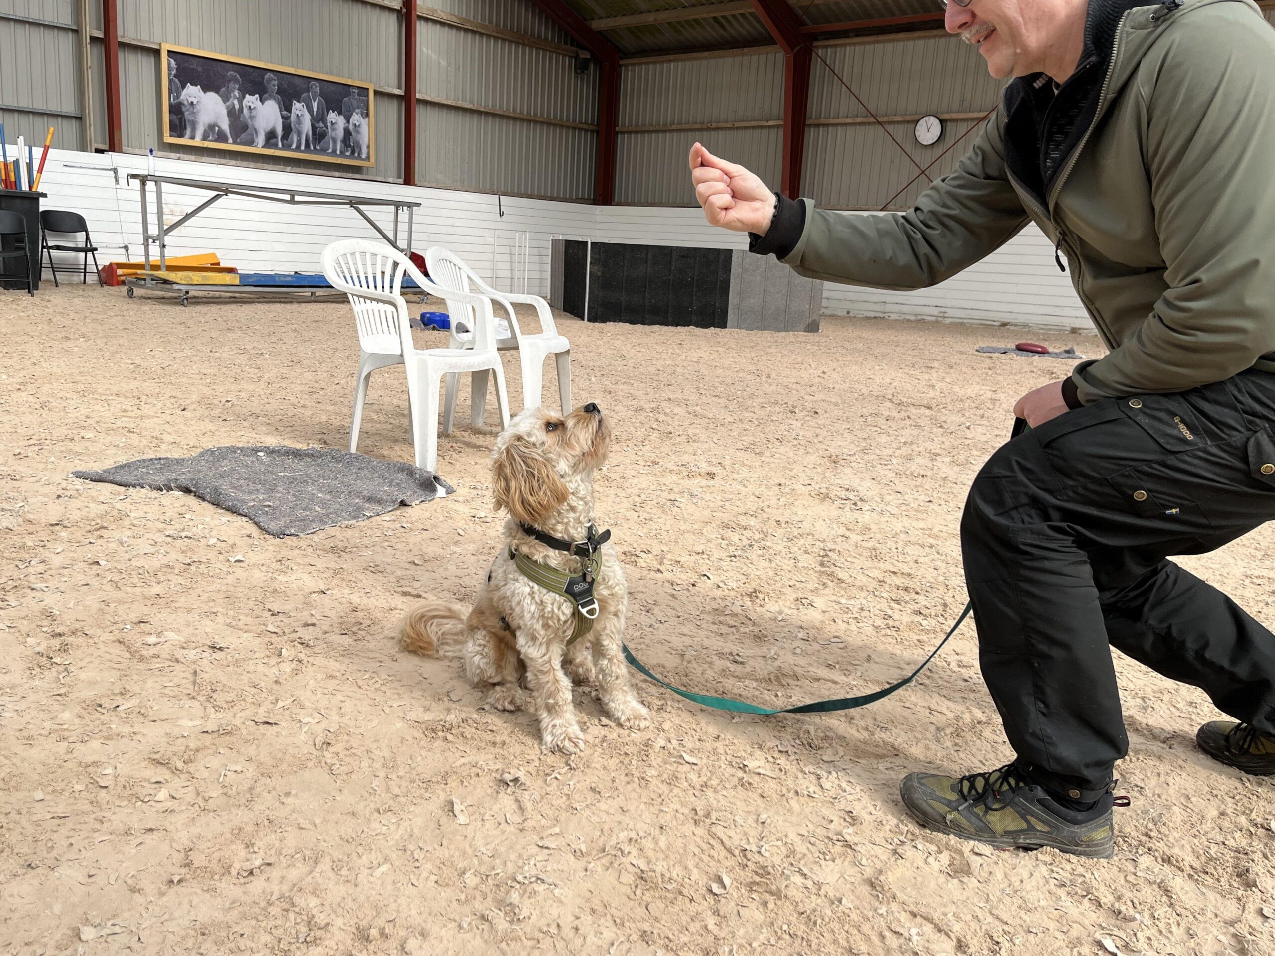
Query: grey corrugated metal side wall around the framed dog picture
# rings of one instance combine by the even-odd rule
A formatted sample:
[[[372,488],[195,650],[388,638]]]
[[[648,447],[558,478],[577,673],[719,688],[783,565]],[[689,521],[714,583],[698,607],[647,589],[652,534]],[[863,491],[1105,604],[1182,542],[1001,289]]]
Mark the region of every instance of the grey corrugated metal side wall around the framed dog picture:
[[[431,5],[538,40],[571,43],[548,17],[523,0],[433,0]],[[42,143],[47,127],[56,125],[61,148],[105,148],[105,51],[99,38],[91,43],[93,143],[85,140],[78,119],[78,0],[0,0],[4,14],[9,19],[0,19],[0,121],[9,139],[24,135]],[[102,29],[101,0],[89,0],[89,25]],[[125,150],[154,148],[161,154],[320,175],[403,177],[403,34],[402,14],[393,5],[363,0],[119,0],[119,25]],[[430,18],[421,18],[417,28],[417,93],[479,107],[427,101],[416,105],[419,182],[546,198],[592,198],[599,79],[595,65],[578,74],[570,55]],[[377,88],[376,164],[363,170],[164,143],[161,98],[166,78],[159,43],[372,83]]]

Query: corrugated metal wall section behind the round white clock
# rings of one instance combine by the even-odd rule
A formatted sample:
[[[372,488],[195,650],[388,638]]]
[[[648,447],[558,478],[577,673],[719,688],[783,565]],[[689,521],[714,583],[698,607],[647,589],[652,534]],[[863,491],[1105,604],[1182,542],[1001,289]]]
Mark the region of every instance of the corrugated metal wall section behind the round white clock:
[[[954,37],[820,47],[817,52],[827,65],[815,57],[811,68],[811,120],[867,116],[829,66],[877,116],[983,113],[998,102],[1002,87],[988,75],[978,51]],[[942,138],[932,147],[917,143],[913,121],[890,124],[889,130],[926,167],[973,125],[972,120],[945,122]],[[951,172],[975,135],[966,136],[928,175],[938,178]],[[807,127],[801,191],[821,206],[878,209],[918,172],[876,124]],[[891,205],[910,205],[928,185],[927,178],[918,180]]]

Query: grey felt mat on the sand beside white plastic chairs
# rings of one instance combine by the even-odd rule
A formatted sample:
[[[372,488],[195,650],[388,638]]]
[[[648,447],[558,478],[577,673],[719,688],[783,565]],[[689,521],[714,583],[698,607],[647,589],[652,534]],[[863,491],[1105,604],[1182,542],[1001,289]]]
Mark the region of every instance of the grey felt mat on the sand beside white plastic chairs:
[[[224,445],[191,458],[142,458],[71,474],[125,488],[185,491],[277,538],[362,521],[455,491],[405,461],[287,445]]]

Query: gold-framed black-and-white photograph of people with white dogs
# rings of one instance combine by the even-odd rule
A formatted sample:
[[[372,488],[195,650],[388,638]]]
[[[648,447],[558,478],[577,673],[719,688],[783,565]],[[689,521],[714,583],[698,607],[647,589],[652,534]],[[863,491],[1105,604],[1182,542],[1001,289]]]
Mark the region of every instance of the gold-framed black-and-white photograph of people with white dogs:
[[[163,140],[371,166],[372,85],[164,43]]]

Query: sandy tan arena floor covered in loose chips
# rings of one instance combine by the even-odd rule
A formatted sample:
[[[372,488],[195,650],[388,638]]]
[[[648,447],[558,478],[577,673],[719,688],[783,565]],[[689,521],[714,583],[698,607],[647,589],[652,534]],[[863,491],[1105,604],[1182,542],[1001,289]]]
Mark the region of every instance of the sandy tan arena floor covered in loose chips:
[[[968,483],[1014,399],[1067,368],[975,354],[1024,338],[989,328],[562,330],[578,403],[615,422],[599,521],[630,645],[761,704],[872,690],[929,651],[964,603]],[[1118,662],[1132,807],[1104,863],[901,809],[909,770],[1010,756],[970,626],[849,715],[732,719],[638,678],[649,732],[578,692],[588,751],[543,755],[529,715],[391,637],[417,597],[474,594],[495,428],[442,438],[456,496],[284,540],[69,477],[342,446],[346,305],[50,287],[0,293],[0,953],[1275,951],[1275,784],[1195,750],[1216,715],[1192,688]],[[400,370],[374,376],[360,450],[411,460]],[[1275,529],[1186,563],[1275,623]]]

